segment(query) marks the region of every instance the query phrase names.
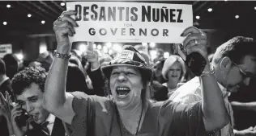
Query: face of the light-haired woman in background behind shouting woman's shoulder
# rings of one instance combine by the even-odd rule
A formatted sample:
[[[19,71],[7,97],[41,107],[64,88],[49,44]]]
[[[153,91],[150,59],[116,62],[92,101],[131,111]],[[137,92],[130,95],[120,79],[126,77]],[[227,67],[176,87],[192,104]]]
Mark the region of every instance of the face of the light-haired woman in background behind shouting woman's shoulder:
[[[170,87],[176,88],[177,83],[181,78],[181,64],[179,62],[176,61],[175,63],[173,63],[172,67],[169,68],[167,77]]]

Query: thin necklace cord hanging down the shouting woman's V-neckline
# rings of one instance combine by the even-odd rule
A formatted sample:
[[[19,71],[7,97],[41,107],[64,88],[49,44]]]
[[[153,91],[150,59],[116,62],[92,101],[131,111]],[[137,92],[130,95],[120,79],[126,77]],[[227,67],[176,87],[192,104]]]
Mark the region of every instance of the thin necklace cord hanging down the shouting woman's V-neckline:
[[[143,105],[142,105],[143,106]],[[134,134],[134,136],[137,136],[138,133],[139,133],[139,126],[140,126],[140,122],[141,122],[141,119],[143,117],[143,109],[144,109],[144,106],[142,107],[142,110],[140,112],[140,116],[139,116],[139,122],[138,122],[138,125],[137,125],[137,129],[136,129],[136,133]],[[121,117],[118,113],[118,110],[117,110],[117,105],[116,105],[116,111],[117,111],[117,121],[118,121],[118,125],[119,125],[119,129],[120,129],[120,134],[123,136],[123,135],[126,135],[124,134],[124,130],[126,130],[126,127],[122,124],[122,120],[121,120]],[[121,129],[122,127],[122,129]]]

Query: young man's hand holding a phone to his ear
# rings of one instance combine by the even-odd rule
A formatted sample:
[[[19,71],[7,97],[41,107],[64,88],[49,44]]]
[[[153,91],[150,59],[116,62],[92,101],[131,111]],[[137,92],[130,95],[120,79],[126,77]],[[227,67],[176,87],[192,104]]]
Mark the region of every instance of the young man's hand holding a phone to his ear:
[[[21,114],[22,114],[22,109],[20,105],[15,106],[15,108],[11,110],[11,124],[12,124],[13,132],[15,136],[23,136],[25,132],[28,130],[28,125],[22,128],[19,128],[19,126],[17,125],[17,122],[15,121],[15,118],[20,116]]]

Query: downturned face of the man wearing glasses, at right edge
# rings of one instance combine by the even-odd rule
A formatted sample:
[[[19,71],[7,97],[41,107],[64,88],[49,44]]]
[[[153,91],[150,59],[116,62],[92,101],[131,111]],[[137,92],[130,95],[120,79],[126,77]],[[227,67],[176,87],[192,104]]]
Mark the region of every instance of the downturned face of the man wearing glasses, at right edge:
[[[256,57],[245,56],[241,64],[230,61],[225,86],[230,92],[237,92],[242,87],[248,86],[252,76],[256,75]]]

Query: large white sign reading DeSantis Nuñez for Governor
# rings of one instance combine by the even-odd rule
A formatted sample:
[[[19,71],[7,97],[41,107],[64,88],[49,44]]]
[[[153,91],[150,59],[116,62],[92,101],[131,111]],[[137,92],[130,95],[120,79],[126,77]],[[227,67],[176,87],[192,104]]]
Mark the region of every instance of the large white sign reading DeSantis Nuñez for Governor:
[[[191,5],[144,2],[66,2],[79,27],[70,41],[181,43],[193,25]]]

